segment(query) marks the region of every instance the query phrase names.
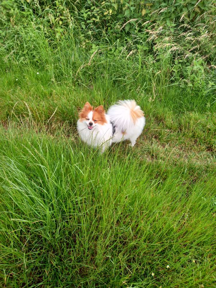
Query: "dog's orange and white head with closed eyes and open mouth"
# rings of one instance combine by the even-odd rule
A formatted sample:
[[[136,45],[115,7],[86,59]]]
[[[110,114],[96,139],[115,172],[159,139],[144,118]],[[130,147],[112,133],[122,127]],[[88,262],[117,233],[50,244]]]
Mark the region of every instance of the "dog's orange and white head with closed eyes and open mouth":
[[[88,102],[86,102],[82,111],[79,113],[79,119],[88,126],[89,130],[97,125],[104,125],[107,123],[103,106],[101,105],[93,109]]]

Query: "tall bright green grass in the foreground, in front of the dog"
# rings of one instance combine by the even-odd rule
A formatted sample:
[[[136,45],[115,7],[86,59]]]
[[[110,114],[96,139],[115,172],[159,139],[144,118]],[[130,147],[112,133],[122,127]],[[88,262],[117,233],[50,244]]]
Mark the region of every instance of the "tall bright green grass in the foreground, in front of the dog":
[[[3,286],[214,286],[213,175],[21,133],[1,131]]]

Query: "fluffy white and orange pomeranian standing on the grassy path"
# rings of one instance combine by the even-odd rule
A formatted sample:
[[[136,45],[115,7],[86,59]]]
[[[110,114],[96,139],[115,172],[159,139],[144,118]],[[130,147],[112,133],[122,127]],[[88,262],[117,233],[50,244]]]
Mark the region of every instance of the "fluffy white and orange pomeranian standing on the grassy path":
[[[107,113],[103,106],[95,109],[86,102],[79,113],[79,136],[90,146],[101,147],[101,152],[112,143],[130,140],[133,147],[145,126],[143,111],[134,100],[119,101]]]

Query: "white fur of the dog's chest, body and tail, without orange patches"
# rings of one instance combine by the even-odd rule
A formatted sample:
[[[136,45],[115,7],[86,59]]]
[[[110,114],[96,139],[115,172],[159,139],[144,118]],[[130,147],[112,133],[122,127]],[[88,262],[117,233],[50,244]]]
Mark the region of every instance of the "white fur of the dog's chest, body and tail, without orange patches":
[[[134,105],[133,100],[119,101],[117,104],[111,106],[106,114],[107,123],[104,125],[97,124],[92,119],[92,111],[89,112],[89,120],[77,122],[77,130],[82,141],[90,146],[101,146],[103,152],[112,143],[120,142],[122,140],[130,140],[133,147],[137,138],[142,133],[145,126],[145,117],[137,118],[135,124],[130,115],[130,110]],[[140,109],[139,106],[134,108]],[[115,126],[115,134],[112,136],[112,121]],[[89,130],[89,123],[92,122],[92,129]]]

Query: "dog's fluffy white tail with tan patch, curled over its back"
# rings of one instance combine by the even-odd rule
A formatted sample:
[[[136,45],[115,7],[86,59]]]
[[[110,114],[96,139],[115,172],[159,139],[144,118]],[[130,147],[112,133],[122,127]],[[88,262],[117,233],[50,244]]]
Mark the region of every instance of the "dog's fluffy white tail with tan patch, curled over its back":
[[[110,120],[122,132],[133,128],[138,118],[144,117],[143,111],[134,100],[119,101],[107,111]]]

